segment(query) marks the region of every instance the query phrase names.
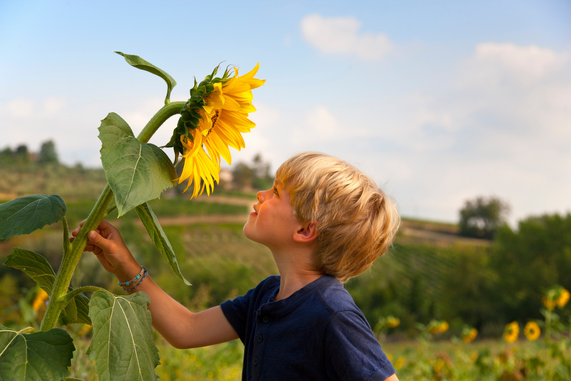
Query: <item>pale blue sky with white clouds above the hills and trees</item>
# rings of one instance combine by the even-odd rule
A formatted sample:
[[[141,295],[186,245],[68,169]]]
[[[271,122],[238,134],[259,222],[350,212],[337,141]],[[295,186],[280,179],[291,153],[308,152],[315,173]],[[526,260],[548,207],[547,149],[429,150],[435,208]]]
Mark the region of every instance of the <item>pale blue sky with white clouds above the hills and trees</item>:
[[[248,71],[258,126],[234,162],[319,150],[383,184],[403,215],[454,221],[496,195],[511,220],[571,209],[571,2],[0,0],[0,147],[54,139],[99,165],[99,120],[138,131],[166,70],[188,97],[220,61]],[[163,145],[172,118],[153,142]]]

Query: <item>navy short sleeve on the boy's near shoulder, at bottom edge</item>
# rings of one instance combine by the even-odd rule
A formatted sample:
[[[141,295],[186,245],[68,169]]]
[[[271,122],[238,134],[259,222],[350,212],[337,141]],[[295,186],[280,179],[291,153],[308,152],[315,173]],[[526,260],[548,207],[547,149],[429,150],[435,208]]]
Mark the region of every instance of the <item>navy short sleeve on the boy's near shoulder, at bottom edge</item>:
[[[325,365],[331,380],[383,381],[396,373],[367,321],[341,311],[325,331]]]

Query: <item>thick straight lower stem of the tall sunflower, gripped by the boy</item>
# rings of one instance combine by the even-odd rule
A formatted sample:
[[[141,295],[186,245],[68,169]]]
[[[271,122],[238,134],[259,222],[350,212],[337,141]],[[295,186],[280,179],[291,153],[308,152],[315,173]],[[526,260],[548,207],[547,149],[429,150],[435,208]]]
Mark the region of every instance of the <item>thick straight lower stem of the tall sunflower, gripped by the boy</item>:
[[[51,290],[50,303],[47,305],[46,314],[43,315],[42,325],[40,327],[41,331],[49,331],[51,328],[55,327],[58,322],[59,313],[65,307],[65,299],[67,294],[67,287],[71,282],[71,276],[75,271],[75,267],[81,259],[81,254],[87,241],[87,233],[94,230],[99,223],[105,218],[106,210],[111,200],[113,199],[113,192],[107,184],[107,186],[101,192],[99,199],[93,206],[89,216],[83,227],[79,231],[77,237],[75,237],[74,242],[71,244],[70,250],[67,251],[66,255],[62,259],[62,264],[59,266],[58,274],[55,276],[54,287]],[[65,304],[64,304],[65,303]]]

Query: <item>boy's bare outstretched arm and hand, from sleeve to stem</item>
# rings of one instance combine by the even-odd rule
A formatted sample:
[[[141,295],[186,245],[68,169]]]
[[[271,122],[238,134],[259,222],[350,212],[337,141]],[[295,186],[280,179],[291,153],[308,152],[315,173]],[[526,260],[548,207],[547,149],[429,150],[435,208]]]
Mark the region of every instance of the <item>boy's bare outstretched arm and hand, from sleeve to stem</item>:
[[[71,235],[77,236],[82,221]],[[117,228],[103,220],[96,231],[88,234],[85,251],[92,251],[105,270],[115,274],[120,282],[139,273],[140,265],[131,255]],[[73,238],[71,238],[73,240]],[[152,326],[175,348],[196,348],[238,339],[220,306],[193,313],[166,294],[150,276],[134,291],[144,291],[151,299]]]

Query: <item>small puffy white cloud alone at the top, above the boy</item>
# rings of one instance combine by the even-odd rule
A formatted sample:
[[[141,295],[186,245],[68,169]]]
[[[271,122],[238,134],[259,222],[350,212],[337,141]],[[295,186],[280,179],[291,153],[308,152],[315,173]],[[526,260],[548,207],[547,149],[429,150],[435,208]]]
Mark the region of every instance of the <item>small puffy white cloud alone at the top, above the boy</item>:
[[[312,14],[301,20],[305,39],[323,53],[355,54],[376,60],[392,49],[387,35],[359,33],[361,22],[354,17],[322,17]]]

